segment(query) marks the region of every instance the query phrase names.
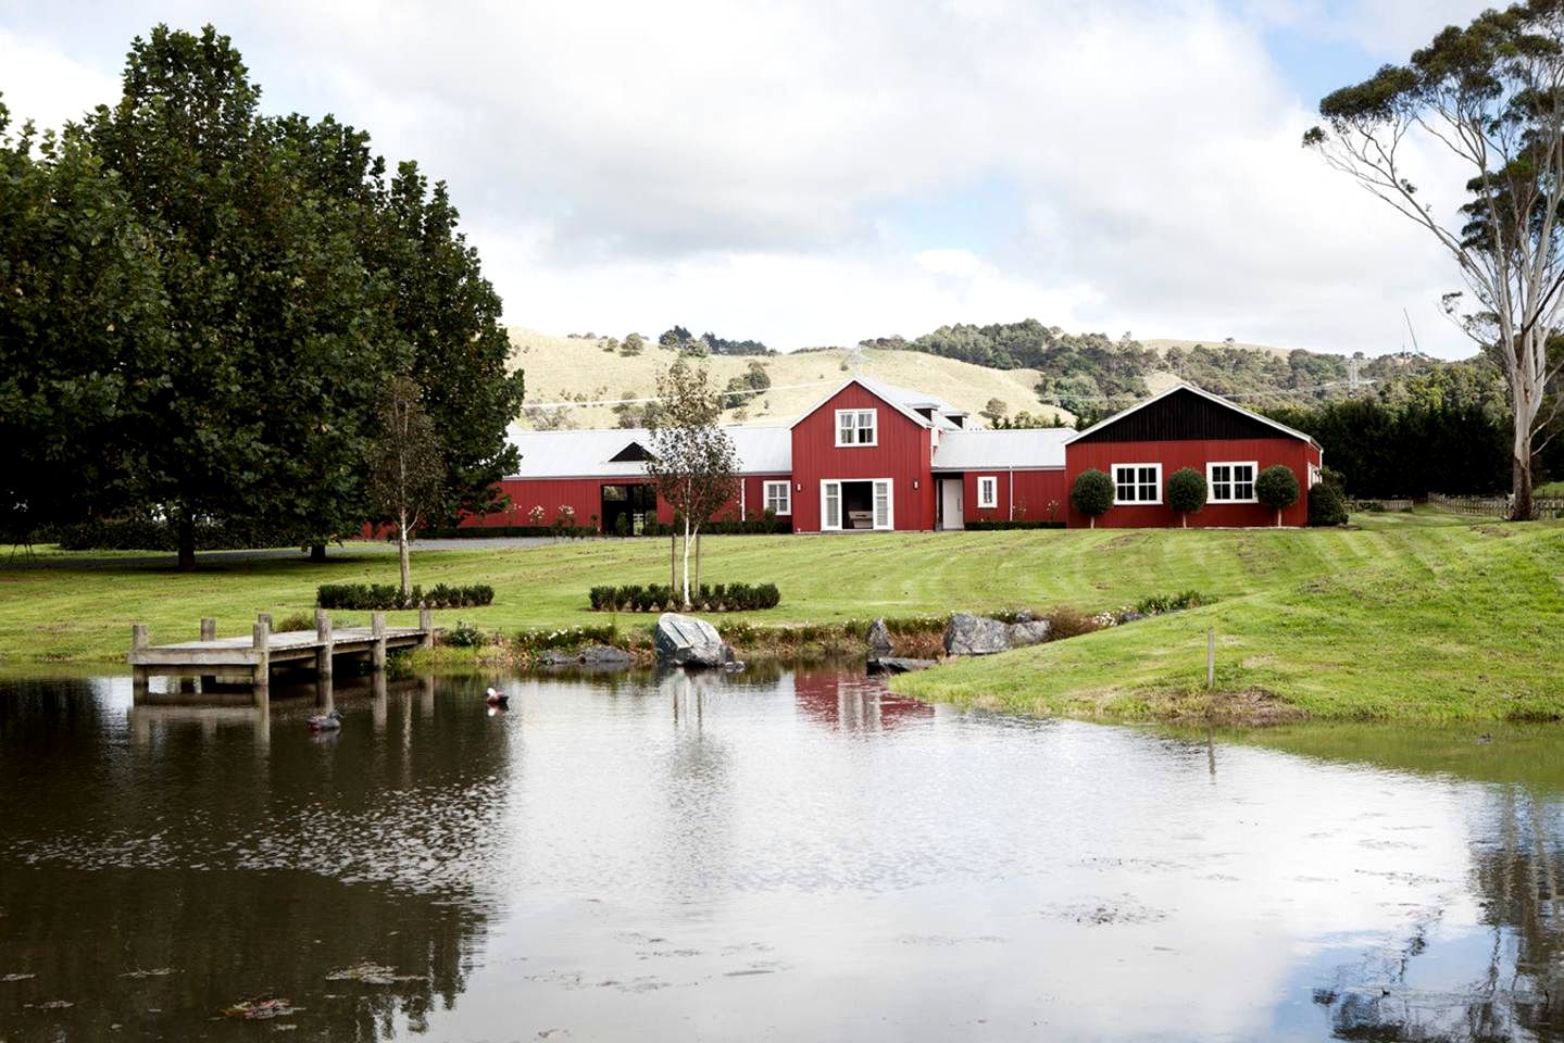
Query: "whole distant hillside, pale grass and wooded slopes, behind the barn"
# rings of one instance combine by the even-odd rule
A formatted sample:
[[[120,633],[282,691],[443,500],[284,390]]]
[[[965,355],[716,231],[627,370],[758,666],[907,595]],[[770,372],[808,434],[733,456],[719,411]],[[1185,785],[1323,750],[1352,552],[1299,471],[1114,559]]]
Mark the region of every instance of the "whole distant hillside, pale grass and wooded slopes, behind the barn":
[[[640,422],[635,405],[621,399],[654,392],[657,372],[679,357],[676,342],[704,342],[715,352],[765,352],[755,341],[694,338],[674,327],[644,339],[638,355],[626,355],[616,339],[547,336],[513,328],[513,363],[527,371],[527,416],[532,427],[618,427]],[[673,336],[677,335],[677,336]],[[607,349],[607,350],[605,350]],[[1067,333],[1035,319],[990,325],[943,325],[915,339],[884,336],[860,341],[863,375],[938,394],[981,416],[990,400],[1009,418],[1031,413],[1043,419],[1092,422],[1156,394],[1178,380],[1231,396],[1257,410],[1300,408],[1364,391],[1387,389],[1408,377],[1473,363],[1442,363],[1423,357],[1345,355],[1279,349],[1232,341],[1146,339],[1129,335]],[[705,364],[718,383],[766,386],[735,397],[729,419],[743,424],[791,421],[851,372],[845,349],[810,349],[788,355],[712,353]],[[1356,364],[1356,382],[1353,366]],[[1356,391],[1354,391],[1356,388]],[[563,403],[563,405],[549,405]]]

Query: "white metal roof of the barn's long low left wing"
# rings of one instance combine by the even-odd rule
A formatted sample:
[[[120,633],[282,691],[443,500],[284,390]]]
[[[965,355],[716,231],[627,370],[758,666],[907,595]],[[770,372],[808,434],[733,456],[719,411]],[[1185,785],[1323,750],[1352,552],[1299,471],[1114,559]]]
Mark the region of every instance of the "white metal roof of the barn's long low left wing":
[[[738,453],[740,474],[788,474],[793,471],[793,435],[785,427],[724,427]],[[646,475],[640,460],[615,463],[630,443],[651,449],[644,427],[608,430],[527,432],[510,428],[510,444],[521,453],[508,478],[635,478]]]

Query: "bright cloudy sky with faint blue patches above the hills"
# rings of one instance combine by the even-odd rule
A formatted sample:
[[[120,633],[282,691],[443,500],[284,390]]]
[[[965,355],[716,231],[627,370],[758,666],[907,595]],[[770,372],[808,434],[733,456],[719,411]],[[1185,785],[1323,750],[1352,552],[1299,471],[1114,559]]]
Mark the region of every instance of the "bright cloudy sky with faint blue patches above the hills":
[[[0,0],[0,94],[58,124],[117,95],[135,34],[213,22],[266,111],[447,180],[505,321],[549,333],[787,350],[1031,316],[1381,353],[1404,308],[1467,355],[1451,263],[1300,138],[1483,6]]]

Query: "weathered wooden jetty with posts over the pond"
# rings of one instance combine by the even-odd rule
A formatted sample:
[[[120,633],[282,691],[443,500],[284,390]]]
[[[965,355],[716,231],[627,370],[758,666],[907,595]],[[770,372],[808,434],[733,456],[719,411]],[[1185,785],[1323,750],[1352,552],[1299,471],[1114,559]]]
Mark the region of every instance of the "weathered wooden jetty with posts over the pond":
[[[416,627],[388,627],[385,613],[369,615],[368,627],[332,627],[324,608],[314,611],[314,630],[272,632],[271,613],[255,618],[249,635],[219,638],[217,621],[200,621],[200,640],[177,644],[152,644],[147,625],[138,622],[130,630],[128,661],[135,676],[135,699],[142,702],[147,679],[194,677],[196,691],[202,682],[235,679],[249,682],[256,705],[271,699],[274,666],[305,666],[316,677],[332,677],[332,660],[338,655],[368,657],[374,671],[383,671],[386,652],[407,647],[433,647],[435,624],[427,608],[419,608]]]

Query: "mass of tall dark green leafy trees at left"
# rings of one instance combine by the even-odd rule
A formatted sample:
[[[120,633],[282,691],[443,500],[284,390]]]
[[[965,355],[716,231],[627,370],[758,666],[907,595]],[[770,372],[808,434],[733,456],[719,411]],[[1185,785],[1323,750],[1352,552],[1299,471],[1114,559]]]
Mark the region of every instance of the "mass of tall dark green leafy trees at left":
[[[0,114],[8,529],[167,518],[185,568],[203,521],[353,533],[400,378],[444,443],[438,511],[494,505],[522,378],[444,185],[260,97],[227,36],[160,25],[81,125],[39,142]]]

